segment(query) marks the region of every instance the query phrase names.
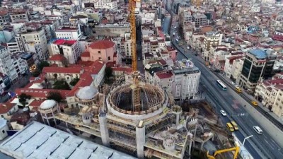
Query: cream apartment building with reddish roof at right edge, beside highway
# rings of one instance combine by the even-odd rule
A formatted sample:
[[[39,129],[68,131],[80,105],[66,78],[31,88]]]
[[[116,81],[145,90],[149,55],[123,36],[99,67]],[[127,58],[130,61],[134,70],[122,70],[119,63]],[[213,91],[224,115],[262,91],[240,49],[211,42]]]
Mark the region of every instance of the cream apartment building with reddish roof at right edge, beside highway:
[[[272,110],[278,117],[283,117],[283,79],[261,80],[255,88],[255,98],[262,105]]]

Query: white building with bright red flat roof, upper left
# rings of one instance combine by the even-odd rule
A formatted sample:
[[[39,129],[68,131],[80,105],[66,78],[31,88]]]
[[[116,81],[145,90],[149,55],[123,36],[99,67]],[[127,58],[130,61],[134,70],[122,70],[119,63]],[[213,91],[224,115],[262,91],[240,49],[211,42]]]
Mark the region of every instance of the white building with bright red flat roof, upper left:
[[[79,47],[79,42],[76,40],[55,40],[50,45],[52,52],[50,55],[63,54],[68,60],[69,64],[76,64],[80,55],[81,48]]]

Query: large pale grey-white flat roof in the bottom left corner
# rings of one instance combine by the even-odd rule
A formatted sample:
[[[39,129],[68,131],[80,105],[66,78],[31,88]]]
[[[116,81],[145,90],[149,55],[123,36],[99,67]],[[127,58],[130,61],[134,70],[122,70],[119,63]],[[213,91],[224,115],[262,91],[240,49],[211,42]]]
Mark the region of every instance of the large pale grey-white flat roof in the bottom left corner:
[[[31,122],[1,143],[0,151],[13,158],[134,159],[39,122]]]

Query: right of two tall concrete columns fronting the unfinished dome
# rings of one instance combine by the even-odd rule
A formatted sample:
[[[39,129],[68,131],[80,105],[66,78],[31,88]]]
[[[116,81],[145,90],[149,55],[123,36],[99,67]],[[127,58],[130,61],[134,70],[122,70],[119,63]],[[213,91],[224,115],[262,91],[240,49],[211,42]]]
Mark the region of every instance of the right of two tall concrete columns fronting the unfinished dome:
[[[144,143],[146,143],[145,126],[136,126],[137,157],[144,158]]]

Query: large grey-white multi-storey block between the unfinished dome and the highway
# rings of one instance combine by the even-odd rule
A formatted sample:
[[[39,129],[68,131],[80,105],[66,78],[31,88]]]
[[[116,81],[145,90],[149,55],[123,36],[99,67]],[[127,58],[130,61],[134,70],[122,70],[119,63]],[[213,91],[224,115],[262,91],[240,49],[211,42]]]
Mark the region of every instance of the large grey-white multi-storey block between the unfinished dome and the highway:
[[[194,99],[200,84],[200,70],[189,60],[178,61],[178,65],[172,69],[174,99]]]

